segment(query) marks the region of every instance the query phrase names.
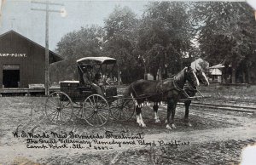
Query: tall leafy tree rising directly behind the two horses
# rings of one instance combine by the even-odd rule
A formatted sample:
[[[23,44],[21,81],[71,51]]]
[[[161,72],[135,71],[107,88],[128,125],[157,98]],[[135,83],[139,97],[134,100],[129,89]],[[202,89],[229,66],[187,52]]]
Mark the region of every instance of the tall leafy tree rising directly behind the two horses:
[[[191,48],[194,35],[189,16],[189,3],[149,3],[138,26],[137,51],[146,63],[144,71],[154,77],[160,70],[177,73],[183,69],[183,57]]]

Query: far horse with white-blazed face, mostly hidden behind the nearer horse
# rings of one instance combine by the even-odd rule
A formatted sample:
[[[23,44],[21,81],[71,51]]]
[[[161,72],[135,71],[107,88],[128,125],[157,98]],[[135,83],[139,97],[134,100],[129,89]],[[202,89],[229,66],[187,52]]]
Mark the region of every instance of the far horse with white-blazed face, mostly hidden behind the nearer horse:
[[[208,78],[206,74],[200,69],[196,69],[195,71],[196,77],[198,77],[198,80],[201,84],[204,84],[206,86],[209,85]],[[187,99],[188,95],[189,97],[195,96],[195,94],[198,92],[197,88],[195,86],[192,86],[189,84],[188,86],[185,86],[185,94],[182,94],[181,99]],[[188,94],[188,95],[187,95]],[[184,122],[191,127],[191,123],[189,122],[189,106],[191,104],[191,100],[185,100],[184,105],[185,105],[185,117],[184,117]]]

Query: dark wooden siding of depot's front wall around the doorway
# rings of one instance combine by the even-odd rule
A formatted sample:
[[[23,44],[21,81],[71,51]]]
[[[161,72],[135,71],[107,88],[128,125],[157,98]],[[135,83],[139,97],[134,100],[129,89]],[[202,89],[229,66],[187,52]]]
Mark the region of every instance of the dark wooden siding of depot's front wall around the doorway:
[[[1,54],[26,54],[26,57]],[[0,88],[3,87],[3,65],[20,65],[20,88],[44,83],[44,48],[13,31],[0,37]]]

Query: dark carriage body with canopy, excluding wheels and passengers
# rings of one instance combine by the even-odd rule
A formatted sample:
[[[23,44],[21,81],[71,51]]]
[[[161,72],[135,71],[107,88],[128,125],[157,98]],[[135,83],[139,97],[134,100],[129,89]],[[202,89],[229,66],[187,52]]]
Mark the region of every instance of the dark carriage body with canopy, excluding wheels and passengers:
[[[96,74],[102,74],[101,88],[104,90],[103,96],[111,101],[113,96],[117,95],[117,88],[108,84],[107,79],[116,65],[116,60],[109,57],[85,57],[77,60],[79,81],[62,81],[60,83],[61,92],[68,94],[73,102],[82,102],[91,94],[97,94],[92,83]],[[88,74],[88,68],[93,70],[94,74],[89,82],[84,82],[83,75]]]

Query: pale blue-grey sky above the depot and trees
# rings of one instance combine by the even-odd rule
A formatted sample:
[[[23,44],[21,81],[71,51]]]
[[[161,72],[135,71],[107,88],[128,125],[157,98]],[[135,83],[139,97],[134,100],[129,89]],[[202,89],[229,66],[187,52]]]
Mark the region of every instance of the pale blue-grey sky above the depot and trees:
[[[82,26],[103,26],[104,20],[113,12],[115,6],[127,6],[139,17],[148,3],[145,0],[55,0],[50,2],[64,4],[64,6],[50,6],[50,9],[65,8],[67,11],[66,17],[61,17],[59,13],[49,14],[49,49],[53,51],[61,37],[68,32],[77,31]],[[31,3],[30,0],[5,0],[2,5],[0,35],[14,30],[42,46],[45,45],[45,12],[32,10],[45,9],[44,4]]]

